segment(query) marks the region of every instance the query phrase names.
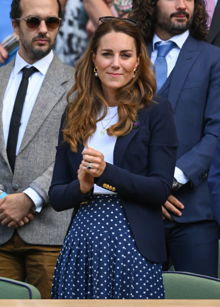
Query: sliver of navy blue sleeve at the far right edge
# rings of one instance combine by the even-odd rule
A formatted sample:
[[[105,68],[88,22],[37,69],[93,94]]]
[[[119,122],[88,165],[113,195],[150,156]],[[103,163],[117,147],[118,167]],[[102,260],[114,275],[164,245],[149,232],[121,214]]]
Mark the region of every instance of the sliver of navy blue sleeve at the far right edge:
[[[213,209],[218,225],[220,226],[220,130],[218,145],[208,176],[208,185],[210,189],[211,207]]]

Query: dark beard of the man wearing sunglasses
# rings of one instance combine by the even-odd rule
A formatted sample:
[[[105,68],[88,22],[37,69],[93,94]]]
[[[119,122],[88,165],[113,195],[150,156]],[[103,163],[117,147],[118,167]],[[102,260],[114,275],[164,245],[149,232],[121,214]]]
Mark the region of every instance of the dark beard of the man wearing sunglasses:
[[[38,36],[34,37],[31,42],[27,41],[24,37],[24,33],[22,32],[21,28],[20,30],[20,41],[23,46],[24,52],[26,53],[26,56],[29,60],[37,61],[42,59],[44,56],[49,54],[49,52],[52,50],[55,41],[51,41],[50,37],[46,37],[44,34],[39,34]],[[46,39],[48,41],[48,46],[41,47],[41,46],[34,46],[33,42],[37,41],[38,39]]]

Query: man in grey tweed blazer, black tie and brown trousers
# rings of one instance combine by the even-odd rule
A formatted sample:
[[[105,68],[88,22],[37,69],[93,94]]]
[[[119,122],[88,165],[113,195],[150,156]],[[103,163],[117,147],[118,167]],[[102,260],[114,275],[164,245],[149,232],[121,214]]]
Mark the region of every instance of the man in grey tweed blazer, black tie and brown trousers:
[[[40,19],[34,20],[37,28],[29,28],[33,28],[33,24],[28,24],[32,21],[25,20],[29,16]],[[20,37],[20,49],[16,59],[0,69],[0,190],[4,194],[0,193],[8,194],[0,199],[0,276],[20,281],[27,278],[42,298],[50,298],[54,266],[71,217],[69,210],[55,212],[47,194],[60,119],[67,104],[66,95],[73,85],[73,68],[63,64],[51,51],[60,21],[56,19],[57,27],[49,29],[54,27],[51,20],[46,20],[49,16],[62,17],[59,0],[12,1],[12,24]],[[28,104],[34,95],[36,100],[29,119],[27,115],[21,119],[19,133],[23,129],[24,134],[17,147],[13,173],[6,152],[10,118],[7,119],[18,91],[16,78],[22,78],[22,72],[16,73],[16,69],[28,64],[39,71],[29,77],[22,115],[30,108]],[[39,82],[42,85],[36,94]],[[37,196],[37,205],[32,195]]]

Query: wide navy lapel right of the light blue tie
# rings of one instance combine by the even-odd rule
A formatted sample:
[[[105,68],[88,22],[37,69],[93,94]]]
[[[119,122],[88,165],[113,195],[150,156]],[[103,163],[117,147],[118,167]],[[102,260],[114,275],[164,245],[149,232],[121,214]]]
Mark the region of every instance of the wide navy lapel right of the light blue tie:
[[[187,78],[187,75],[200,53],[201,50],[197,50],[196,40],[191,35],[189,35],[183,44],[182,49],[180,50],[171,77],[168,100],[170,100],[172,104],[173,111],[175,110],[181,89]]]

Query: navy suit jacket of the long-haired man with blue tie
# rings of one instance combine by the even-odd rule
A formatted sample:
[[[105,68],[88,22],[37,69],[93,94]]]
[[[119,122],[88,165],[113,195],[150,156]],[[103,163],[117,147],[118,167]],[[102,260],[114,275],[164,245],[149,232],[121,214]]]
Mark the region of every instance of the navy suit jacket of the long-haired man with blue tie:
[[[220,48],[189,35],[158,95],[173,107],[179,139],[176,166],[190,178],[172,193],[185,206],[182,216],[171,215],[180,223],[213,220],[207,175],[220,124]]]

